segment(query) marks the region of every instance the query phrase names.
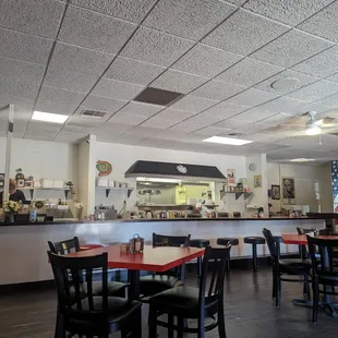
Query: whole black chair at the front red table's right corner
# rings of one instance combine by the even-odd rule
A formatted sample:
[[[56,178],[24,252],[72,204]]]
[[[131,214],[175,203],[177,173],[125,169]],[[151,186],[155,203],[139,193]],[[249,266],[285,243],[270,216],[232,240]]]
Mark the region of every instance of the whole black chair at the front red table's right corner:
[[[169,338],[173,338],[173,330],[178,331],[178,338],[182,338],[183,333],[194,333],[198,338],[204,338],[205,331],[217,326],[219,337],[226,337],[224,282],[230,249],[231,244],[205,249],[200,288],[180,286],[149,299],[149,338],[157,337],[157,326],[167,327]],[[207,283],[208,274],[210,279]],[[158,313],[168,314],[168,322],[159,321]],[[178,318],[177,324],[174,317]],[[184,325],[189,318],[197,319],[196,328]],[[206,318],[213,322],[206,325]]]

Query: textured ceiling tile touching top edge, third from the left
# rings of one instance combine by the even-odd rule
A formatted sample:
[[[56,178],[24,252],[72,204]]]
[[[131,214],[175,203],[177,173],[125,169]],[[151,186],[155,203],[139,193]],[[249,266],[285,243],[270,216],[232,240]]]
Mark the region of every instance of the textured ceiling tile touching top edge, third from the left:
[[[144,25],[198,40],[236,10],[218,0],[159,1]]]

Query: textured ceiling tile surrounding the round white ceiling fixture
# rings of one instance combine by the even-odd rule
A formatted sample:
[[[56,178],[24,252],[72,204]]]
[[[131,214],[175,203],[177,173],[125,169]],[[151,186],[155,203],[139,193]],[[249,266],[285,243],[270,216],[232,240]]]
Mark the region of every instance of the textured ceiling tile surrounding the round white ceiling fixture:
[[[271,85],[276,81],[281,80],[281,79],[286,79],[286,77],[298,79],[300,82],[293,87],[283,88],[283,89],[275,89],[271,87]],[[303,74],[300,72],[295,72],[295,71],[291,71],[291,70],[286,70],[281,73],[278,73],[277,75],[274,75],[274,76],[256,84],[254,87],[257,89],[261,89],[261,90],[266,90],[266,92],[270,92],[270,93],[275,93],[275,94],[279,94],[279,95],[285,95],[285,94],[288,94],[292,90],[307,86],[309,84],[312,84],[318,80],[319,80],[318,77],[314,77],[314,76]]]

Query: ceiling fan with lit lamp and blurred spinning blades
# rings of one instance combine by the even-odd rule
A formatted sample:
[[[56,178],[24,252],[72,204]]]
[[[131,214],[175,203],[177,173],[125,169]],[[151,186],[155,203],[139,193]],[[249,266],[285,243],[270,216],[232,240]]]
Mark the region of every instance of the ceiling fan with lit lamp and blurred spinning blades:
[[[278,134],[285,137],[322,135],[338,133],[338,123],[334,118],[318,118],[316,111],[309,111],[301,117],[292,118],[277,126],[269,128],[263,133]]]

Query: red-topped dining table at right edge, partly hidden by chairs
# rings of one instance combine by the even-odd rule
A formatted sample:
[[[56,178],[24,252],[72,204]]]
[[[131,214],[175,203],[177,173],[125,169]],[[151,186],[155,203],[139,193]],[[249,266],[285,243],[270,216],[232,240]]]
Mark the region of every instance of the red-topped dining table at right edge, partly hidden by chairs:
[[[282,233],[281,237],[282,237],[282,240],[283,240],[285,244],[307,245],[306,234]],[[331,236],[331,234],[319,234],[319,236],[316,236],[316,238],[322,239],[322,240],[337,240],[338,237],[337,237],[337,234],[335,234],[335,236]],[[301,251],[301,252],[303,253],[304,251]],[[324,262],[326,262],[325,265],[329,265],[328,254],[325,253],[325,251],[324,251],[323,255],[325,255],[323,257]],[[306,257],[302,257],[302,258],[305,259]],[[337,304],[333,303],[331,295],[328,294],[328,293],[325,293],[323,300],[324,300],[325,304],[331,304],[331,305],[328,305],[329,312],[330,312],[330,314],[333,316],[337,316],[337,313],[336,313],[335,307],[334,307],[334,306],[337,306]],[[313,306],[313,303],[310,300],[293,300],[292,303],[295,304],[295,305],[310,305],[310,306]]]

